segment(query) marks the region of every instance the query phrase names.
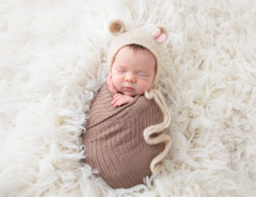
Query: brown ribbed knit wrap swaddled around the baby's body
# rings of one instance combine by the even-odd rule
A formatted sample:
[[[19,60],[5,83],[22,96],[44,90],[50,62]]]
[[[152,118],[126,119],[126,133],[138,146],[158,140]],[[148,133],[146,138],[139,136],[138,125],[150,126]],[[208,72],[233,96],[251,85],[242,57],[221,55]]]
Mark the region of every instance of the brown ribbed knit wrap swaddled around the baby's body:
[[[137,96],[131,103],[114,108],[113,93],[105,84],[90,105],[83,143],[85,162],[96,168],[110,187],[131,188],[150,176],[150,163],[164,144],[149,145],[146,127],[163,121],[154,99]]]

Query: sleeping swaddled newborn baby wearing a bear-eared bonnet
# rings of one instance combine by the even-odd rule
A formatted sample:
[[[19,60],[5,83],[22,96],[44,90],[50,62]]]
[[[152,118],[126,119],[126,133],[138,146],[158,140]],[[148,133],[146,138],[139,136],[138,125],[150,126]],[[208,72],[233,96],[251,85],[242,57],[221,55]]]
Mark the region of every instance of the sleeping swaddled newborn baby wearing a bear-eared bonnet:
[[[162,27],[125,31],[121,20],[109,30],[116,37],[108,50],[108,81],[90,104],[85,162],[113,189],[128,189],[159,172],[171,147],[164,132],[171,116],[157,85],[167,34]]]

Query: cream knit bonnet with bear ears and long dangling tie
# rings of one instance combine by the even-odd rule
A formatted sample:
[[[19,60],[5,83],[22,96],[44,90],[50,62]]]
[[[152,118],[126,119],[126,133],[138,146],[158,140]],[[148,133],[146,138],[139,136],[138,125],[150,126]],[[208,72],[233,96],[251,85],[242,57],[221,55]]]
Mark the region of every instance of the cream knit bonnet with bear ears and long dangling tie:
[[[160,110],[163,112],[164,121],[157,125],[152,125],[147,127],[144,132],[144,139],[148,144],[160,144],[165,143],[165,149],[160,155],[156,156],[152,160],[150,169],[155,174],[160,171],[162,164],[161,160],[167,155],[169,149],[171,148],[171,138],[166,133],[162,132],[156,137],[152,137],[154,133],[159,133],[166,129],[171,123],[171,115],[167,109],[166,103],[162,94],[160,93],[160,87],[157,85],[160,77],[160,68],[162,67],[162,42],[166,41],[167,31],[162,26],[157,26],[152,31],[148,31],[148,28],[137,28],[126,31],[125,24],[122,20],[112,20],[109,24],[109,31],[115,36],[113,42],[111,42],[108,48],[108,60],[107,64],[109,69],[113,64],[113,59],[118,53],[120,48],[123,48],[130,44],[137,44],[143,48],[147,48],[154,58],[156,59],[156,73],[154,77],[154,82],[152,83],[150,89],[145,93],[145,97],[148,99],[154,98],[156,104],[159,105]]]

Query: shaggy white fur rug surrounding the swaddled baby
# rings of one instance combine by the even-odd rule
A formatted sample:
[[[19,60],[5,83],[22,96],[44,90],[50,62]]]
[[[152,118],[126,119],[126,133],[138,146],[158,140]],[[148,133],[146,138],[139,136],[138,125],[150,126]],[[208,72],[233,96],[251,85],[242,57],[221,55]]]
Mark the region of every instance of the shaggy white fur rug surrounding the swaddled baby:
[[[172,150],[127,190],[79,162],[115,18],[169,31]],[[1,1],[0,196],[256,196],[255,32],[254,0]]]

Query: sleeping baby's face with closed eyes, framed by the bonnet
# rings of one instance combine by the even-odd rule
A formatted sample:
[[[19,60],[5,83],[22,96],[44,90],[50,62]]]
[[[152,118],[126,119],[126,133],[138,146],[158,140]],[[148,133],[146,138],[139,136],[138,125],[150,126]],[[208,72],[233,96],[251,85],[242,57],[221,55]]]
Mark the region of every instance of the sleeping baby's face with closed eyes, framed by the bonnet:
[[[112,81],[119,93],[134,97],[147,91],[154,81],[156,61],[146,49],[121,48],[112,65]]]

